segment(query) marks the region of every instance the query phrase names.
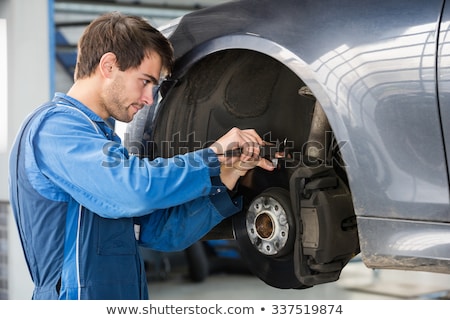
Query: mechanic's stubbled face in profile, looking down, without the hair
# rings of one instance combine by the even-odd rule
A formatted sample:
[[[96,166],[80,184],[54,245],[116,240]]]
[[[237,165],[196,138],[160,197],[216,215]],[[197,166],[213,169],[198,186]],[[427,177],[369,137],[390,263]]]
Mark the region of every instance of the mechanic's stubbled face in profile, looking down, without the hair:
[[[156,53],[146,56],[135,69],[117,70],[106,87],[104,108],[116,120],[130,122],[140,109],[153,103],[160,75],[161,57]]]

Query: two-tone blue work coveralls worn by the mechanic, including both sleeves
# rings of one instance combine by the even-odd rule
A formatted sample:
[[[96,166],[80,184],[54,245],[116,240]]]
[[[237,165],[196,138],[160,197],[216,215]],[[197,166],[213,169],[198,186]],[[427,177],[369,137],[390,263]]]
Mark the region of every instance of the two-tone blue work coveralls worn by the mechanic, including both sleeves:
[[[10,155],[32,298],[148,299],[138,245],[182,250],[240,211],[219,173],[210,149],[128,155],[103,119],[57,93],[24,122]]]

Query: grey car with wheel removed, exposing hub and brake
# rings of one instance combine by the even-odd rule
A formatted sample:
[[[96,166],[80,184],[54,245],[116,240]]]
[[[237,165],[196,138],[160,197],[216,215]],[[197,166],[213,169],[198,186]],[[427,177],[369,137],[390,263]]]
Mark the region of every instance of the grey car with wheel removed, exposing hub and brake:
[[[160,28],[175,66],[128,125],[131,153],[170,157],[232,127],[263,156],[240,213],[206,239],[238,244],[270,286],[371,269],[450,273],[450,3],[241,0]]]

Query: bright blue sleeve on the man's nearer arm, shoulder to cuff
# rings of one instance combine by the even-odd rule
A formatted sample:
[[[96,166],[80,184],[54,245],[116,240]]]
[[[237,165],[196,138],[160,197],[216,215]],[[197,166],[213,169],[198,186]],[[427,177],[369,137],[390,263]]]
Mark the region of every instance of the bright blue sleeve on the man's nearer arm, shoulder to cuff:
[[[205,201],[226,190],[211,184],[211,177],[220,173],[212,150],[154,161],[128,157],[120,143],[107,140],[91,122],[70,108],[47,114],[31,133],[29,150],[34,154],[29,162],[31,171],[39,171],[100,216],[137,217],[177,206],[182,210],[194,199]],[[37,189],[51,197],[54,190],[45,194],[47,182],[41,180],[34,181]]]

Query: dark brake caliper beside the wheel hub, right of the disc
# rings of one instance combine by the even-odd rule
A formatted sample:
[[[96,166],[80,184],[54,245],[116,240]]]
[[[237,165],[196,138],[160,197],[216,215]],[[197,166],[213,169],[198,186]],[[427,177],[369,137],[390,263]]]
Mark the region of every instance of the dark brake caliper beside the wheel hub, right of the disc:
[[[310,286],[336,281],[360,251],[348,187],[332,168],[299,167],[290,177],[290,194],[297,278]]]

